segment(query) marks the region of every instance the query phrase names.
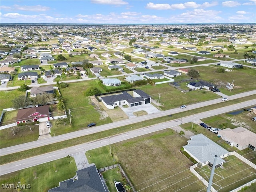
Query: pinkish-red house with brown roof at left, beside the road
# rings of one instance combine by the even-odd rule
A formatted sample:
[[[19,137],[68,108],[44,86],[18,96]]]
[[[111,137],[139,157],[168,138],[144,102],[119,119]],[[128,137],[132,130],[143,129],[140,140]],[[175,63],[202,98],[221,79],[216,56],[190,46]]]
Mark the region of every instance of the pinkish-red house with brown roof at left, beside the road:
[[[17,124],[25,123],[28,120],[33,122],[46,122],[49,119],[49,105],[20,109],[18,110],[18,114],[16,116]]]

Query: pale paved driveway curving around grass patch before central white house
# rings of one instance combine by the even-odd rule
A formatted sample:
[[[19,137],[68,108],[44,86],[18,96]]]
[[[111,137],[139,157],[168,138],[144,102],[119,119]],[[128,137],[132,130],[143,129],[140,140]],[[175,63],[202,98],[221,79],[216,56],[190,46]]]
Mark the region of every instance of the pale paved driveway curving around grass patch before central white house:
[[[135,118],[136,116],[133,113],[136,111],[146,111],[148,114],[160,112],[160,110],[158,110],[152,104],[145,104],[145,105],[134,106],[129,108],[121,107],[121,109],[126,113],[126,115],[128,115],[129,118]]]

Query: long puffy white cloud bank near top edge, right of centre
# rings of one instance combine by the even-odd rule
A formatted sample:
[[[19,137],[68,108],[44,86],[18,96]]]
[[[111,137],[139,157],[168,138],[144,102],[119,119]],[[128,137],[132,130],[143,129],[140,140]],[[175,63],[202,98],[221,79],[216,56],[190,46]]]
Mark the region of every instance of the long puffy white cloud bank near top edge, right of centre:
[[[218,5],[217,1],[213,1],[211,3],[205,2],[203,4],[197,4],[196,2],[186,2],[186,3],[179,3],[179,4],[154,4],[152,2],[146,5],[148,9],[156,9],[156,10],[176,10],[176,9],[186,9],[186,8],[207,8]]]

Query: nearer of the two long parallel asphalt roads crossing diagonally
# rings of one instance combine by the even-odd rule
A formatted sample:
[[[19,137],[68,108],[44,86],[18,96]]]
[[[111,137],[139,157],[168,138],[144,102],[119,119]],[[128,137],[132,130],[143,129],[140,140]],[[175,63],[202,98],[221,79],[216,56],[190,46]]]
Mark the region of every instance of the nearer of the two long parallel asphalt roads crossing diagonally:
[[[62,150],[57,150],[57,151],[54,151],[54,152],[49,152],[49,153],[42,154],[42,155],[39,155],[39,156],[34,156],[34,157],[31,157],[31,158],[27,158],[27,159],[19,160],[19,161],[16,161],[16,162],[1,165],[0,166],[0,170],[1,170],[0,175],[8,174],[8,173],[11,173],[11,172],[14,172],[14,171],[17,171],[17,170],[21,170],[21,169],[24,169],[24,168],[36,166],[38,164],[43,164],[43,163],[46,163],[46,162],[57,160],[57,159],[66,157],[68,155],[73,155],[73,154],[80,153],[80,152],[86,152],[87,150],[92,150],[92,149],[95,149],[95,148],[99,148],[99,147],[102,147],[102,146],[106,146],[106,145],[109,145],[109,144],[113,144],[113,143],[116,143],[116,142],[120,142],[120,141],[123,141],[123,140],[130,139],[130,138],[138,137],[138,136],[148,134],[148,133],[151,133],[151,132],[156,132],[156,131],[163,130],[163,129],[166,129],[166,128],[172,128],[173,126],[179,125],[181,123],[187,123],[187,122],[199,120],[199,119],[202,119],[202,118],[207,118],[207,117],[210,117],[210,116],[218,115],[218,114],[221,114],[221,113],[226,113],[226,112],[229,112],[229,111],[232,111],[232,110],[238,110],[238,109],[248,107],[248,106],[252,106],[252,105],[255,105],[255,104],[256,104],[256,99],[249,100],[249,101],[246,101],[246,102],[242,102],[242,103],[238,103],[238,104],[234,104],[234,105],[230,105],[230,106],[226,106],[226,107],[222,107],[222,108],[202,112],[202,113],[199,113],[199,114],[194,114],[194,115],[187,116],[187,117],[184,117],[184,118],[171,120],[169,122],[164,122],[164,123],[144,127],[144,128],[138,129],[138,130],[125,132],[125,133],[122,133],[122,134],[118,134],[118,132],[117,132],[117,135],[111,136],[110,138],[104,138],[104,139],[100,139],[100,140],[96,140],[96,141],[92,141],[92,142],[72,146],[72,147],[69,147],[69,148],[62,149]],[[191,106],[189,108],[191,109]],[[178,109],[174,109],[174,110],[178,111]],[[189,109],[187,109],[187,110],[189,110]],[[111,127],[111,128],[113,128],[113,127]],[[28,145],[31,145],[31,143],[28,143]]]

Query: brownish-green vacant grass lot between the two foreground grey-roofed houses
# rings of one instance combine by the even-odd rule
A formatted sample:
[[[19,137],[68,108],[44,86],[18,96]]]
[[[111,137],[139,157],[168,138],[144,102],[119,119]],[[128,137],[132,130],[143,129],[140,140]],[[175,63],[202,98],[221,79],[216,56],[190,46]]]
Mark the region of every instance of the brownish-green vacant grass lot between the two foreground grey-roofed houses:
[[[190,172],[192,163],[179,152],[180,147],[187,144],[186,140],[166,129],[112,144],[111,149],[114,160],[121,163],[136,190],[200,191],[205,188],[204,185]],[[96,166],[104,167],[113,163],[109,147],[96,150],[97,152],[92,150],[86,153],[87,156],[91,155],[89,159],[94,155],[94,159],[90,161],[95,162]],[[101,154],[104,150],[106,155],[103,157]]]

